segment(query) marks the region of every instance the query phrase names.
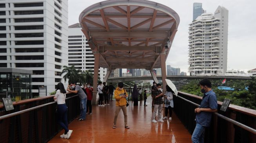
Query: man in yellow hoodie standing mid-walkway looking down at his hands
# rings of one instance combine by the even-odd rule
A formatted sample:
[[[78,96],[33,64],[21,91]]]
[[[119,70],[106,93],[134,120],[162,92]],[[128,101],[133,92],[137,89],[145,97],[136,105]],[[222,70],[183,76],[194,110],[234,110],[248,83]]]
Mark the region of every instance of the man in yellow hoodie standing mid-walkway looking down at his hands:
[[[113,129],[116,129],[116,119],[118,117],[120,109],[122,109],[123,111],[125,128],[130,128],[127,123],[126,97],[128,97],[128,95],[125,89],[123,89],[123,82],[119,82],[118,88],[116,88],[116,90],[114,91],[114,98],[116,99],[116,113],[114,116]]]

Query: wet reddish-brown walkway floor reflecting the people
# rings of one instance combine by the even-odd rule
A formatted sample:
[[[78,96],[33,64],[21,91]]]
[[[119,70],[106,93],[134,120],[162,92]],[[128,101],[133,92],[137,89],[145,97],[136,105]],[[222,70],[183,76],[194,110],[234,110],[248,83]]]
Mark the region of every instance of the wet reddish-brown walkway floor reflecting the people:
[[[115,100],[105,107],[93,105],[93,114],[87,114],[85,121],[73,120],[69,124],[69,129],[73,130],[69,139],[60,138],[64,132],[62,130],[49,143],[191,143],[191,134],[175,113],[172,114],[172,120],[152,123],[153,110],[150,102],[151,97],[148,97],[148,106],[145,107],[143,104],[133,106],[129,102],[127,113],[130,129],[124,128],[122,110],[118,115],[116,129],[112,129]]]

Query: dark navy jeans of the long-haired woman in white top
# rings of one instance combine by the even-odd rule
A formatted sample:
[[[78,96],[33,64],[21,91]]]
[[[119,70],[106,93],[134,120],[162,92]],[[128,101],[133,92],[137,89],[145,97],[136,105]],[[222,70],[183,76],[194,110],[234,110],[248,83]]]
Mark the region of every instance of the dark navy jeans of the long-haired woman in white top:
[[[65,134],[69,131],[69,124],[67,123],[67,105],[58,104],[57,105],[57,120],[61,127],[65,130]]]

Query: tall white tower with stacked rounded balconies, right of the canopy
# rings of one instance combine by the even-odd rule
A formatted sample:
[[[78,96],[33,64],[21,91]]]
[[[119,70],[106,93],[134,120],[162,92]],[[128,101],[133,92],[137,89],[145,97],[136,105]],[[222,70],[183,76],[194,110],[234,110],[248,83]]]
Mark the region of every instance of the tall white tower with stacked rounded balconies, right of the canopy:
[[[190,75],[223,75],[227,71],[229,11],[219,6],[189,25]]]

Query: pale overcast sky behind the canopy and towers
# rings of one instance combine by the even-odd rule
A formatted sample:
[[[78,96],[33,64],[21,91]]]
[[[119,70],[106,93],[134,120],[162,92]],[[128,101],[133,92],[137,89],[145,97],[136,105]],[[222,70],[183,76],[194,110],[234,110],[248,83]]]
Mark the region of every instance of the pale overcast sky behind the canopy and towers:
[[[80,13],[88,6],[103,0],[69,0],[69,25],[78,23]],[[151,0],[166,5],[180,16],[180,25],[166,64],[187,72],[188,27],[192,22],[193,3],[200,2],[207,13],[218,5],[229,10],[227,69],[247,72],[256,68],[256,1],[255,0]]]

